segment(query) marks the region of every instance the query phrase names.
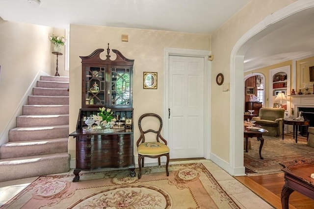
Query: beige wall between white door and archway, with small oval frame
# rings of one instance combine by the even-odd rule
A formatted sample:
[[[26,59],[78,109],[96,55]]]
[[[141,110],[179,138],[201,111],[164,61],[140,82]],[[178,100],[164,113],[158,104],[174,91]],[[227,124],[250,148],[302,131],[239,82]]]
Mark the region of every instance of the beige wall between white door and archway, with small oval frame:
[[[211,74],[211,152],[225,162],[230,161],[230,92],[222,92],[222,86],[215,82],[216,75],[223,73],[226,83],[230,83],[231,52],[237,41],[252,27],[267,16],[289,5],[295,0],[253,0],[229,21],[217,29],[211,38],[211,51],[214,55]],[[243,75],[243,69],[238,72]],[[238,79],[236,82],[243,83]],[[232,85],[231,85],[232,86]],[[240,90],[243,91],[243,90]],[[241,110],[243,103],[236,104]]]

